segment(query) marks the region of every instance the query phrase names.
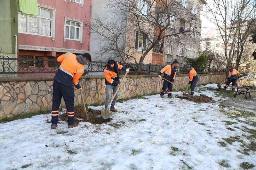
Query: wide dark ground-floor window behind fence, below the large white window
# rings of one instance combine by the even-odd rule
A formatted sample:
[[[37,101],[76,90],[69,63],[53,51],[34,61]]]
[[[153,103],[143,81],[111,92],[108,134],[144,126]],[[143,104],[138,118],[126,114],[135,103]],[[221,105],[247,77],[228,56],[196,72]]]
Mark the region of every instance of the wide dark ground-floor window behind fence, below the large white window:
[[[19,55],[20,59],[31,59],[31,60],[19,60],[20,67],[44,67],[43,56],[31,56],[31,55]]]

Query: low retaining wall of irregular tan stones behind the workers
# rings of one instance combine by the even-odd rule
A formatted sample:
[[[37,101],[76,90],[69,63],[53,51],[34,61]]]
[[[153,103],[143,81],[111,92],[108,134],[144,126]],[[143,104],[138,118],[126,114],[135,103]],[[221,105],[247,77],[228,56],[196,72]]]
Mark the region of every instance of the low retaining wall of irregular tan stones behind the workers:
[[[83,76],[80,78],[80,84],[83,87],[84,100],[87,104],[99,102],[96,80],[100,99],[104,101],[106,98],[104,76]],[[177,75],[175,83],[186,87],[188,80],[188,75]],[[224,80],[225,74],[202,74],[199,75],[198,84],[220,83]],[[162,83],[158,75],[127,75],[119,90],[119,99],[160,93]],[[0,78],[0,119],[31,112],[50,111],[52,109],[52,85],[52,77]],[[174,86],[174,89],[179,88]],[[81,103],[80,92],[75,89],[75,106]],[[65,107],[63,99],[60,107]]]

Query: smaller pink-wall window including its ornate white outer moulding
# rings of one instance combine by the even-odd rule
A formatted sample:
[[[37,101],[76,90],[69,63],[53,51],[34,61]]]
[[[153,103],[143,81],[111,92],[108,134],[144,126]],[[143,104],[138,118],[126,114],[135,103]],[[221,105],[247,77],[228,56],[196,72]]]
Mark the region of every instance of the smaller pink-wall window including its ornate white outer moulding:
[[[66,39],[83,41],[83,21],[75,18],[65,17],[64,42]]]

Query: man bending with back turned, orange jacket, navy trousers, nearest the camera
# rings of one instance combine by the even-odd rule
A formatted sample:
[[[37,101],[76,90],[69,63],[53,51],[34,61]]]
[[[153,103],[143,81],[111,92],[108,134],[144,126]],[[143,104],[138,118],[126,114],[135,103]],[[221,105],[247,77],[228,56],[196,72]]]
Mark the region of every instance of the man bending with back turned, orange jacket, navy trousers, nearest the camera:
[[[63,97],[67,107],[68,128],[73,128],[79,125],[78,122],[75,122],[74,118],[74,85],[76,89],[82,90],[78,80],[84,73],[84,66],[86,65],[86,62],[90,62],[92,59],[89,53],[80,55],[65,53],[60,55],[57,61],[61,64],[53,78],[51,128],[57,128],[61,97]]]

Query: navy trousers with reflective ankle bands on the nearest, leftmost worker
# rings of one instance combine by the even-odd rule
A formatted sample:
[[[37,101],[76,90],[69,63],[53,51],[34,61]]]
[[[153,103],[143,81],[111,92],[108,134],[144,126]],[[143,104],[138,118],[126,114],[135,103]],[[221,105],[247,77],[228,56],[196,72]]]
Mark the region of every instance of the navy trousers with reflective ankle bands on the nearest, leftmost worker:
[[[59,107],[62,96],[67,107],[68,125],[74,124],[74,89],[55,80],[53,81],[52,94],[52,124],[57,124],[59,121]]]

